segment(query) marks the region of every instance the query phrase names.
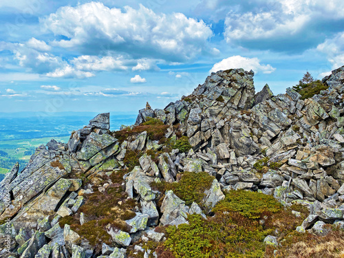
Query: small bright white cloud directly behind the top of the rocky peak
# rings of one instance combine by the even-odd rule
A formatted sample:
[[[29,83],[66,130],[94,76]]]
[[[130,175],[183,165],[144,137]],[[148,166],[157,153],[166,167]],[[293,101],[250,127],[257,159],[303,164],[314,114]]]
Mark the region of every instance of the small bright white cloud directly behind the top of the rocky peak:
[[[219,63],[215,63],[211,72],[217,72],[219,70],[244,68],[249,71],[252,69],[254,72],[263,72],[264,74],[270,74],[275,71],[276,68],[271,65],[261,65],[258,58],[247,58],[243,56],[230,56]]]

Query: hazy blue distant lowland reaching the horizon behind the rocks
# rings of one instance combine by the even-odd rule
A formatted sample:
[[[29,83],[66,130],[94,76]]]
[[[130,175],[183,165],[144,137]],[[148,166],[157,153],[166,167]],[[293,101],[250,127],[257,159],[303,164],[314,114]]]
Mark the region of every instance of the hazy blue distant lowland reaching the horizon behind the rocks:
[[[56,113],[50,116],[42,114],[0,113],[0,180],[3,175],[19,162],[20,170],[30,160],[36,147],[51,139],[67,142],[73,130],[88,124],[96,113]],[[121,125],[133,125],[137,114],[111,114],[111,131]]]

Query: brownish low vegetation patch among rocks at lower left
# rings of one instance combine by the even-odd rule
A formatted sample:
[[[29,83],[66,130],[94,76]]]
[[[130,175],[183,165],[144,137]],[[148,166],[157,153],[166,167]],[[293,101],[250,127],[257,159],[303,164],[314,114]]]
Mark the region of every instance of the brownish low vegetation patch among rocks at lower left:
[[[105,181],[112,182],[105,192],[100,193],[94,190],[94,193],[85,195],[86,202],[80,207],[78,213],[61,218],[58,222],[60,226],[69,224],[72,230],[85,237],[96,248],[101,248],[103,242],[111,244],[111,237],[106,230],[109,224],[114,228],[129,232],[130,228],[125,220],[136,216],[133,208],[139,204],[127,198],[127,193],[122,186],[125,173],[127,171],[114,171],[109,177],[105,177]],[[87,218],[83,225],[80,225],[80,213],[84,213]]]

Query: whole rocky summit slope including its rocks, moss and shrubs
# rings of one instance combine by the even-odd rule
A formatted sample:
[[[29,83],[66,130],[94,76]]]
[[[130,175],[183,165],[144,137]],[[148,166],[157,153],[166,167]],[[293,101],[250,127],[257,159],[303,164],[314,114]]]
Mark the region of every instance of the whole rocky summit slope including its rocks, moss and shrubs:
[[[0,257],[342,257],[344,67],[305,100],[253,77],[37,148],[0,183]]]

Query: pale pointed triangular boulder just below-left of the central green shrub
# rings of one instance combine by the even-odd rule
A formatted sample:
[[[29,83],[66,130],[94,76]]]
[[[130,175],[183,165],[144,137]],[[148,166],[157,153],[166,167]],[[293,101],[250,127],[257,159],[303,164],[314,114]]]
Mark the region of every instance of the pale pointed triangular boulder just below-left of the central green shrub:
[[[182,215],[187,218],[189,213],[189,207],[185,205],[185,202],[180,200],[180,198],[173,193],[173,191],[166,191],[164,200],[160,207],[162,212],[162,217],[160,218],[160,223],[162,225],[167,225],[173,222],[174,219]]]

